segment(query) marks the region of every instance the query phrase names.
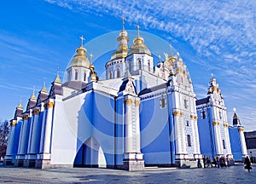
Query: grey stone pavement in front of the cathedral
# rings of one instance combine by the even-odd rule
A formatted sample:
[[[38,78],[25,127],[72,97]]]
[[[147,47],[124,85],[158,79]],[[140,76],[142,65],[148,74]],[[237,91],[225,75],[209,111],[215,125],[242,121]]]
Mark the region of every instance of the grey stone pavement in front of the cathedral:
[[[243,164],[223,169],[146,168],[128,172],[96,168],[38,170],[0,164],[0,183],[255,183],[256,164],[252,166],[251,172],[244,170]]]

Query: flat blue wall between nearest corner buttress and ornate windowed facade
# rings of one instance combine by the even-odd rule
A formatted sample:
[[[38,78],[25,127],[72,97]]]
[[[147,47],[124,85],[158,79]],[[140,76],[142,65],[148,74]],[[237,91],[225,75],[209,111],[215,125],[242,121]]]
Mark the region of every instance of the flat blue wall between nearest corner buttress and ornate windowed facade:
[[[160,97],[142,101],[140,122],[141,131],[143,131],[141,141],[145,164],[171,164],[171,131],[169,131],[167,104],[165,108],[160,108]],[[154,131],[154,128],[155,130],[160,128],[161,131]],[[151,135],[154,136],[154,140],[148,142],[148,137]]]

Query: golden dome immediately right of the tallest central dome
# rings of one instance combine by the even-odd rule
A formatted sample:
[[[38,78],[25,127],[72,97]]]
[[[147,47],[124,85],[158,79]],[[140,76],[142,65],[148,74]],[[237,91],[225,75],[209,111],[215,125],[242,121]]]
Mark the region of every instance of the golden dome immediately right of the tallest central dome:
[[[147,45],[144,44],[144,39],[143,37],[137,36],[133,40],[133,45],[131,45],[131,49],[129,49],[127,55],[131,54],[148,54],[151,55],[149,49],[147,48]]]

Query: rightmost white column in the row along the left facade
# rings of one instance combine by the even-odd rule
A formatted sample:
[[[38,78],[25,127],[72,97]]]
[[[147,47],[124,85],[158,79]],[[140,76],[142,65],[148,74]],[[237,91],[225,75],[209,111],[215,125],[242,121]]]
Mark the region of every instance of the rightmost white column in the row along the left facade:
[[[44,145],[43,145],[44,153],[50,152],[49,147],[50,147],[50,141],[51,141],[51,124],[52,124],[53,107],[54,107],[54,102],[49,101],[47,118],[45,123],[45,131],[44,131]]]

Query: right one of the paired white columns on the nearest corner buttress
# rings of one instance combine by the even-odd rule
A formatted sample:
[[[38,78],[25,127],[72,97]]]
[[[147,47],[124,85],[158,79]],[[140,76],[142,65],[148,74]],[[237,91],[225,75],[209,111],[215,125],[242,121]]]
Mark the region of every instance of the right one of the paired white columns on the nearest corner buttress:
[[[135,101],[135,124],[136,124],[136,152],[141,152],[141,134],[140,134],[140,101]]]

